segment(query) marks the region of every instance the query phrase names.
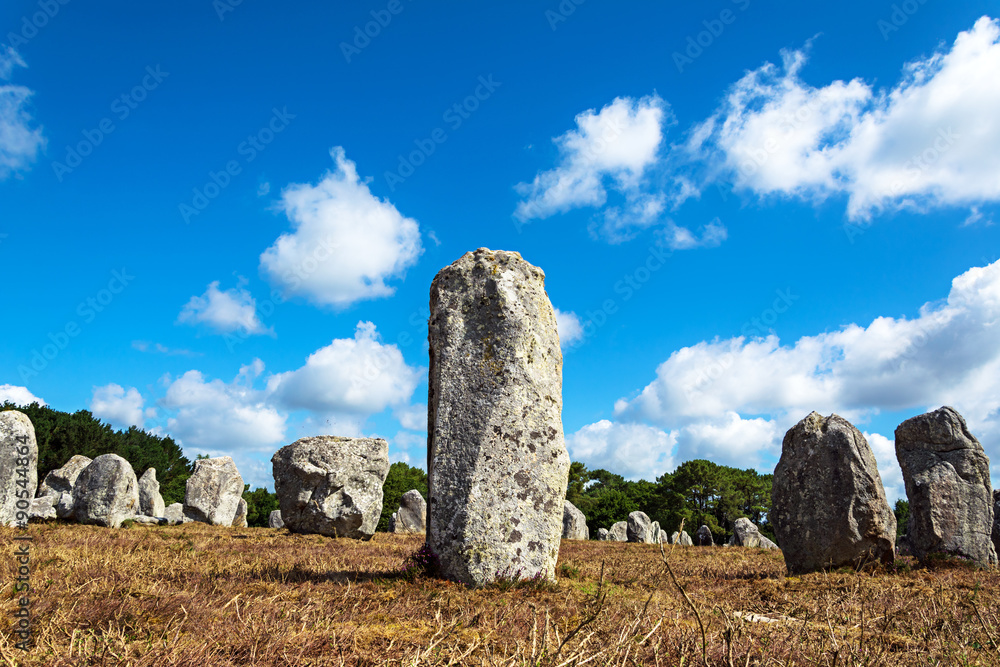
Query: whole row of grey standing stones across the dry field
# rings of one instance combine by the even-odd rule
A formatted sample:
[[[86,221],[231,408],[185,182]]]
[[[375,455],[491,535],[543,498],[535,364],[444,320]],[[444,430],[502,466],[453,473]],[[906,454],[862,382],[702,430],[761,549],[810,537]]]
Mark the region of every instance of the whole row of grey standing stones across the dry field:
[[[552,579],[560,539],[590,535],[586,517],[565,500],[562,354],[544,273],[518,253],[480,248],[438,273],[430,306],[429,496],[425,502],[417,491],[404,494],[390,530],[426,532],[440,574],[456,581]],[[0,414],[4,524],[16,514],[13,443],[29,432],[34,470],[30,422],[15,411]],[[989,461],[961,415],[945,407],[907,420],[896,429],[896,454],[910,501],[906,544],[913,555],[995,565],[1000,494],[991,492]],[[136,480],[114,454],[74,457],[46,476],[36,513],[109,526],[126,518],[246,525],[243,480],[232,459],[195,466],[185,502],[161,512],[155,470]],[[272,466],[280,506],[272,527],[357,539],[374,534],[389,470],[385,440],[303,438],[276,452]],[[814,412],[786,433],[772,501],[770,519],[790,574],[895,557],[896,520],[874,455],[837,415]],[[681,531],[668,540],[642,512],[600,529],[597,539],[713,544],[708,526],[693,539]],[[745,518],[735,522],[729,545],[778,548]]]

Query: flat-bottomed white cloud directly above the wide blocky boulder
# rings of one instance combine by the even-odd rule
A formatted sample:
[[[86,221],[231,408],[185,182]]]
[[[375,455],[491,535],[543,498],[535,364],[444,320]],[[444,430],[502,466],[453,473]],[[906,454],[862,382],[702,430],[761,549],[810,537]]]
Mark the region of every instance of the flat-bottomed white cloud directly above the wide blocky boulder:
[[[379,338],[374,324],[358,322],[354,338],[336,339],[301,368],[268,378],[268,391],[289,409],[319,413],[372,415],[404,406],[423,370],[407,365],[396,345]]]

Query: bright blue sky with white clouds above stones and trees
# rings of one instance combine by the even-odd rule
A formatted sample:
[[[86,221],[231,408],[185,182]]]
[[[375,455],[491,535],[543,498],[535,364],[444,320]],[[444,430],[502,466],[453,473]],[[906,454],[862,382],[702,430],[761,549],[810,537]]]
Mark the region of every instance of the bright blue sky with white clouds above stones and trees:
[[[571,457],[962,412],[1000,481],[995,3],[0,8],[0,397],[426,458],[435,273],[546,272]]]

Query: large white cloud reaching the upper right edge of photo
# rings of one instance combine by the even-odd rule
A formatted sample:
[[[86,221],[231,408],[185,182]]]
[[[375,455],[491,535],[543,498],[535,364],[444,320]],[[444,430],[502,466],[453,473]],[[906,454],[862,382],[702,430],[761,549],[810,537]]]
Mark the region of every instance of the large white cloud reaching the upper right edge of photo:
[[[851,219],[883,210],[1000,200],[1000,23],[982,17],[951,48],[905,65],[874,90],[860,79],[814,87],[805,51],[748,72],[691,132],[709,180],[759,195],[848,198]]]

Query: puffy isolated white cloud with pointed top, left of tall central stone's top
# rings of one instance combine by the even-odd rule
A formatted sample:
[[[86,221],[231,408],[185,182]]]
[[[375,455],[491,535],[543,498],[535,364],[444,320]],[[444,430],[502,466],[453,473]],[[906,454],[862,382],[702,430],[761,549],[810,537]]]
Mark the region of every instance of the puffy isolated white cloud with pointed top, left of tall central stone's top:
[[[319,183],[282,192],[292,231],[261,254],[260,268],[289,296],[346,308],[391,295],[387,281],[402,277],[423,248],[417,221],[373,195],[342,148],[330,154],[336,167]]]

